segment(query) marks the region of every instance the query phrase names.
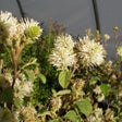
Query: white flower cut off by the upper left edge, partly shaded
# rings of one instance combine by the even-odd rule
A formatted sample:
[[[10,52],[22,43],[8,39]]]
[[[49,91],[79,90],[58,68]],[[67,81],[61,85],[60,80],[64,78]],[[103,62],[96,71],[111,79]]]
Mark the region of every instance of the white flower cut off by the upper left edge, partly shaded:
[[[12,44],[16,33],[17,20],[10,12],[0,12],[0,42]]]

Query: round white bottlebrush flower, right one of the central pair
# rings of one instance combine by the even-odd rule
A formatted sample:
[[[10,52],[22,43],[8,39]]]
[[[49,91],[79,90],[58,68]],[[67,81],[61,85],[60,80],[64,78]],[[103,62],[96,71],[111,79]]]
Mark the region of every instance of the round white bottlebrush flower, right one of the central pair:
[[[105,61],[102,45],[90,40],[88,36],[85,36],[83,39],[80,38],[76,48],[81,62],[87,66],[100,65]]]

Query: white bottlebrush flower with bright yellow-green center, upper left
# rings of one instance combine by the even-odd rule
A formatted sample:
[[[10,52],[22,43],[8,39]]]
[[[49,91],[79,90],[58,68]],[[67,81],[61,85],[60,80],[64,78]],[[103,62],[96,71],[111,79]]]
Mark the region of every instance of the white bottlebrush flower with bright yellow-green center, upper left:
[[[38,39],[42,29],[38,26],[38,22],[30,19],[21,20],[21,25],[24,30],[25,39]]]

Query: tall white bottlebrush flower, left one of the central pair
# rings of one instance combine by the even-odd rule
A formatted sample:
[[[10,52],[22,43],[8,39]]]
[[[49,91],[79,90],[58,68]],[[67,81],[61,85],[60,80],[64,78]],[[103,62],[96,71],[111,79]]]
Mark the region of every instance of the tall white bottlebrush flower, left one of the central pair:
[[[75,42],[71,35],[58,36],[54,40],[54,48],[49,57],[49,62],[58,70],[64,70],[76,63],[75,53],[73,51]]]

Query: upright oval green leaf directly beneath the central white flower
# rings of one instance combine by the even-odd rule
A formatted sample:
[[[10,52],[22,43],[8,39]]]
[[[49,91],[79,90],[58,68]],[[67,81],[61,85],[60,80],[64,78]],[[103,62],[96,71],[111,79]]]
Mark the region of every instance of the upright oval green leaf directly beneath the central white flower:
[[[59,74],[59,84],[63,87],[66,88],[70,84],[70,80],[71,80],[71,73],[68,71],[62,71]]]

